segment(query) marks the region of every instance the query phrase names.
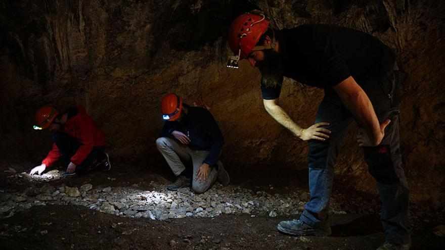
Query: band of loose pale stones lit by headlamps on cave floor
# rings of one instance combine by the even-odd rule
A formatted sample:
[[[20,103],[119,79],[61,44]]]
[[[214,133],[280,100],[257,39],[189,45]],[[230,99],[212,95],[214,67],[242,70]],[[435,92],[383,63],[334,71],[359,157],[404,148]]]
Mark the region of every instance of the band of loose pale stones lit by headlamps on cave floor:
[[[79,187],[44,185],[28,187],[20,192],[0,190],[0,217],[9,217],[32,206],[80,205],[95,211],[133,218],[165,220],[184,217],[214,217],[220,214],[297,215],[304,209],[308,193],[295,189],[287,194],[271,194],[219,184],[203,194],[189,188],[169,191],[152,182],[152,190],[132,187]],[[335,201],[331,212],[343,214]]]

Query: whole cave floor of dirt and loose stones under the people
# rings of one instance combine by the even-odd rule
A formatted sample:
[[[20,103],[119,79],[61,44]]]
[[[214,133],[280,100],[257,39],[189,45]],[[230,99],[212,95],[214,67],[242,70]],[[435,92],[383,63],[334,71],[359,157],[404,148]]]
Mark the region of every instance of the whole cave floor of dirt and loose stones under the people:
[[[307,173],[292,170],[281,179],[232,173],[233,184],[199,195],[168,191],[171,176],[137,168],[69,178],[59,170],[41,177],[3,170],[0,239],[12,249],[375,249],[384,240],[377,198],[341,184],[331,202],[332,236],[278,233],[277,223],[297,217],[308,198]],[[414,249],[440,249],[443,211],[412,210]]]

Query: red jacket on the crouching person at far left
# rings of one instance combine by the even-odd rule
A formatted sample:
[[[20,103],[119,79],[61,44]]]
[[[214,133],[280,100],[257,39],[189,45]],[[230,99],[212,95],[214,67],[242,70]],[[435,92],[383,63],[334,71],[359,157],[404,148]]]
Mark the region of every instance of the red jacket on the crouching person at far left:
[[[74,108],[78,110],[78,113],[66,121],[62,126],[62,130],[69,136],[76,138],[80,143],[76,154],[71,157],[71,162],[77,166],[85,160],[94,146],[105,145],[105,136],[93,119],[86,114],[85,108],[79,105],[76,105]],[[56,143],[53,143],[53,149],[51,149],[48,156],[43,159],[42,163],[50,167],[61,156],[62,153],[59,151]]]

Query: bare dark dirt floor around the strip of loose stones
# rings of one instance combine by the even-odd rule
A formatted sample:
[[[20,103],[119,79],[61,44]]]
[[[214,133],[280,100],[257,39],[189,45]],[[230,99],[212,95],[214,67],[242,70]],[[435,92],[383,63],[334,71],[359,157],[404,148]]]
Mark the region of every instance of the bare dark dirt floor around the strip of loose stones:
[[[2,167],[0,188],[22,190],[44,183],[11,182]],[[264,168],[259,168],[264,169]],[[269,171],[232,170],[231,185],[283,193],[292,186],[307,188],[307,173],[282,169]],[[256,173],[252,176],[252,173]],[[246,178],[249,176],[249,178]],[[109,178],[116,178],[110,181]],[[150,190],[151,181],[168,182],[167,172],[155,174],[142,168],[121,167],[105,173],[54,181],[76,186],[131,186]],[[273,185],[274,189],[270,186]],[[376,197],[352,191],[335,183],[334,197],[353,197],[341,201],[346,215],[333,215],[329,237],[293,237],[280,234],[276,225],[288,217],[271,218],[267,214],[230,214],[215,218],[183,218],[165,221],[127,218],[90,210],[81,206],[36,206],[0,219],[2,249],[375,249],[384,241],[378,212],[364,213],[358,204],[376,203]],[[341,187],[341,188],[338,188]],[[216,187],[215,187],[216,188]],[[359,197],[359,198],[358,198]],[[445,238],[433,233],[443,224],[443,215],[414,206],[422,218],[414,216],[412,249],[443,249]],[[372,211],[379,211],[373,208]],[[361,213],[361,214],[360,214]],[[416,212],[415,212],[416,213]]]

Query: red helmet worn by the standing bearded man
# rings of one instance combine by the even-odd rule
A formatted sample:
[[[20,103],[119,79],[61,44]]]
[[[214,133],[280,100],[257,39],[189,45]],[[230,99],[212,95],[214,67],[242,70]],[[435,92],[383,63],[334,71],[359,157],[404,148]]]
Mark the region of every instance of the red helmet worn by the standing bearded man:
[[[237,17],[230,25],[228,35],[233,53],[239,55],[240,60],[246,58],[268,27],[269,21],[264,19],[264,15],[244,14]]]

